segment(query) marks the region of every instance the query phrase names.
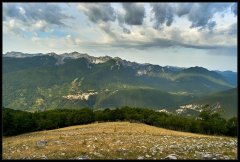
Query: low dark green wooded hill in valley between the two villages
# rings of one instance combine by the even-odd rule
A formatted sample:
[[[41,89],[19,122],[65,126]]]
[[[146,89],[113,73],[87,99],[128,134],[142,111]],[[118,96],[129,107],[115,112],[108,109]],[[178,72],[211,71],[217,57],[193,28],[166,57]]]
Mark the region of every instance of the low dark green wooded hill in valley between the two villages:
[[[121,89],[98,95],[94,107],[147,107],[161,109],[168,107],[169,110],[179,106],[181,103],[192,99],[191,96],[169,94],[155,89],[131,88]]]

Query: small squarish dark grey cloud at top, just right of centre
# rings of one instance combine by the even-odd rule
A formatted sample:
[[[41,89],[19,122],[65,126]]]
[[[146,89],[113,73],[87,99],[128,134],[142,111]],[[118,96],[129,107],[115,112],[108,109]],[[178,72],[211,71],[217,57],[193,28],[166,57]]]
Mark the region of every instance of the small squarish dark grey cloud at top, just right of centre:
[[[128,25],[142,25],[145,17],[145,8],[135,3],[122,3],[126,14],[124,15],[125,23]]]

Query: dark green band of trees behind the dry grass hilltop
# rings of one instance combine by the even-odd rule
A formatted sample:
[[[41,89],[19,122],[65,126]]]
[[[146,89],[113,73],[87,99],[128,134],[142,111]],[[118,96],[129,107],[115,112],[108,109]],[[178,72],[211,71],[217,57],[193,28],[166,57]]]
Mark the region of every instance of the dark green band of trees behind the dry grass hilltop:
[[[198,118],[183,117],[150,109],[122,107],[116,109],[58,109],[25,112],[3,108],[3,135],[50,130],[95,121],[131,121],[157,127],[211,135],[237,136],[237,118],[224,119],[218,113],[204,110]]]

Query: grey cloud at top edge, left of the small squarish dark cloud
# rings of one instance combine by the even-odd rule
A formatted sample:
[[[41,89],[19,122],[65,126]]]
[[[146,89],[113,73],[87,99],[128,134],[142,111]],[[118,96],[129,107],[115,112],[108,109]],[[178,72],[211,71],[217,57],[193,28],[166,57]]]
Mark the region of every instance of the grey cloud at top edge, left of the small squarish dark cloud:
[[[84,10],[84,14],[88,16],[89,20],[94,23],[102,20],[104,22],[115,21],[116,13],[112,8],[111,4],[108,3],[88,3],[81,4],[86,10]]]

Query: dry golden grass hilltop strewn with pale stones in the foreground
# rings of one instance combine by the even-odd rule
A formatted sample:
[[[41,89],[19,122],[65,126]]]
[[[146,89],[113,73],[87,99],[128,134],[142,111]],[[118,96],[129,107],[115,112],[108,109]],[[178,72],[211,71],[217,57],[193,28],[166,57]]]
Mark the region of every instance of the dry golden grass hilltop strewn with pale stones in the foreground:
[[[3,137],[3,159],[237,159],[237,138],[93,123]]]

